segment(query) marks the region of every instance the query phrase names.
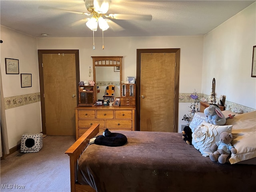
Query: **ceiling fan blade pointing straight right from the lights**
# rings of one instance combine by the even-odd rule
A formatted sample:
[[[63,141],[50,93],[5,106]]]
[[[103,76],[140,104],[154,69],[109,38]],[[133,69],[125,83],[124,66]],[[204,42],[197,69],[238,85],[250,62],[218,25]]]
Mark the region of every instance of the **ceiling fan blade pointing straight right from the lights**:
[[[140,14],[109,14],[107,16],[111,19],[120,19],[120,20],[152,20],[152,15],[140,15]]]

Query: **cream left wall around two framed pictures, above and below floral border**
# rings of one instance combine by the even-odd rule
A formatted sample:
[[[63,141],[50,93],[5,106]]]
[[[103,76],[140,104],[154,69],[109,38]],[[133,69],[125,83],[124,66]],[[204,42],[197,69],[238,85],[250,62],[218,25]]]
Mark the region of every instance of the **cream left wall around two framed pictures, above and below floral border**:
[[[4,26],[0,30],[3,40],[0,59],[4,98],[40,92],[36,38]],[[21,88],[20,74],[6,74],[5,58],[19,60],[20,74],[32,74],[32,87]],[[22,134],[41,132],[40,102],[7,109],[6,126],[9,148],[20,143]]]

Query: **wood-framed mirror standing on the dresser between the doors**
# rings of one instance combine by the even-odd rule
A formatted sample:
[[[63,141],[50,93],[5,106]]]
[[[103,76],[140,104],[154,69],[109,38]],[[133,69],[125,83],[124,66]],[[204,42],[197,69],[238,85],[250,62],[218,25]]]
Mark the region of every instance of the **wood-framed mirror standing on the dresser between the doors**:
[[[102,100],[106,87],[115,86],[115,97],[120,97],[120,82],[122,81],[122,56],[92,56],[93,80],[98,86],[96,99]]]

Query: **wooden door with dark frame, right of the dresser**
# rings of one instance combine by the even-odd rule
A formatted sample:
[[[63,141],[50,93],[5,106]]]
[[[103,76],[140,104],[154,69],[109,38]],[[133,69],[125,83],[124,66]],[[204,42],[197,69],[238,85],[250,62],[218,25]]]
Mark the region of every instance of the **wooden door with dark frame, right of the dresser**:
[[[138,55],[136,130],[177,132],[179,49],[137,50]]]

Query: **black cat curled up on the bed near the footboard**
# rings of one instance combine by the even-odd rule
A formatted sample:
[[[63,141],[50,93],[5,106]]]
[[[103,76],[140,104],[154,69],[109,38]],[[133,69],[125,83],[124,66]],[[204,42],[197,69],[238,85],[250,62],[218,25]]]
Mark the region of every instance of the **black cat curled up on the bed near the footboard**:
[[[126,144],[127,138],[121,133],[112,133],[108,129],[105,129],[103,135],[99,135],[90,139],[89,144],[104,145],[110,147],[118,147]]]

